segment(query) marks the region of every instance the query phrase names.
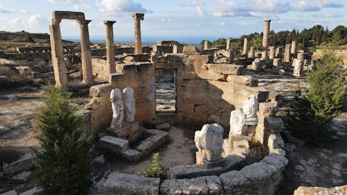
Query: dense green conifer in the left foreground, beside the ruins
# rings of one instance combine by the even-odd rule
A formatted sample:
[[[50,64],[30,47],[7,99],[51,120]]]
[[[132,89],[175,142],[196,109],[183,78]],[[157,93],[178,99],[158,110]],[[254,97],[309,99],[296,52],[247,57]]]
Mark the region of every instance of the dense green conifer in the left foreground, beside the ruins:
[[[38,194],[87,194],[91,185],[92,134],[82,128],[82,117],[70,104],[69,94],[48,87],[40,113],[42,149],[35,151],[33,179]]]

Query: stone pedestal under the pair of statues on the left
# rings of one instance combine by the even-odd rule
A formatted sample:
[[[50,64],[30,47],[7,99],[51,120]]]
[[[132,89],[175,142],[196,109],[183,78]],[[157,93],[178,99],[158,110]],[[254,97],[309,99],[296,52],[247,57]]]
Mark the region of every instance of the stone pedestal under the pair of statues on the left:
[[[135,142],[139,135],[141,135],[139,132],[139,123],[136,121],[133,123],[124,124],[121,128],[107,128],[106,134],[118,137],[120,139],[126,139],[130,143]]]

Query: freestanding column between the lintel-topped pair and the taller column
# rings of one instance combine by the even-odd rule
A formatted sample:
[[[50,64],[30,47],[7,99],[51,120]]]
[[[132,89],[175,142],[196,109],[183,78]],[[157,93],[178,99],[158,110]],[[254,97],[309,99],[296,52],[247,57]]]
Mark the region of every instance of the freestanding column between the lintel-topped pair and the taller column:
[[[106,26],[106,56],[107,56],[107,71],[108,74],[116,73],[115,65],[115,42],[113,40],[113,24],[115,21],[104,21]]]

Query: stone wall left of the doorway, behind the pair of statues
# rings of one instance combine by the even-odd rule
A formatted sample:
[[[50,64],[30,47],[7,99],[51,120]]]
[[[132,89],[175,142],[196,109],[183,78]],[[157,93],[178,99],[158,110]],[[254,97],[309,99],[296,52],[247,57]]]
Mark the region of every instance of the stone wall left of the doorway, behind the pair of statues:
[[[155,117],[155,72],[150,62],[117,65],[121,74],[108,75],[108,83],[90,87],[92,101],[87,108],[92,110],[92,129],[95,133],[110,126],[112,107],[110,92],[115,88],[123,90],[125,87],[134,89],[136,101],[135,121],[140,124],[144,120]]]

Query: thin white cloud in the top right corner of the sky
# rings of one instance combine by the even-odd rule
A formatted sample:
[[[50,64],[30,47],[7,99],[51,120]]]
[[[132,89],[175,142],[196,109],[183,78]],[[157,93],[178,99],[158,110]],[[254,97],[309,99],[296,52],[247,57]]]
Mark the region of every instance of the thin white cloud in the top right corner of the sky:
[[[314,1],[294,1],[291,4],[292,10],[299,11],[319,11],[321,8],[341,8],[343,5],[341,3],[333,3],[329,0],[314,0]]]

